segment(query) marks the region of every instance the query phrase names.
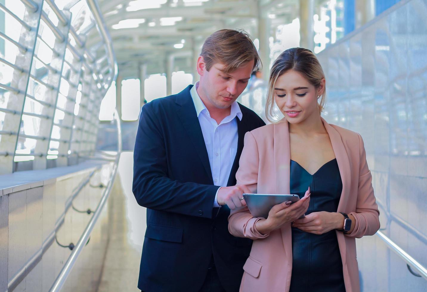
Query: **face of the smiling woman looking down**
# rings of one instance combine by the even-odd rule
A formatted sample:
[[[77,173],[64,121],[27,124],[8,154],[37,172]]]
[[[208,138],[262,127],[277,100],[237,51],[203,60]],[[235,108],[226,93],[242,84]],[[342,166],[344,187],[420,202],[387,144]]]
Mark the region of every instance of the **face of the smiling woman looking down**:
[[[276,81],[274,99],[289,123],[301,123],[307,117],[320,115],[317,96],[322,95],[324,88],[325,79],[316,88],[301,73],[288,70]]]

